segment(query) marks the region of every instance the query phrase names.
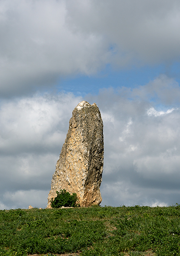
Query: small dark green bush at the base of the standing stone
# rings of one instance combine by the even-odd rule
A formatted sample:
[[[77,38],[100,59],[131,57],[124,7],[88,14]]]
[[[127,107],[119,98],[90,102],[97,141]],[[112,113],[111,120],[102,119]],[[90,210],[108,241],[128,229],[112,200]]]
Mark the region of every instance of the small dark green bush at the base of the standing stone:
[[[64,207],[78,207],[78,198],[77,194],[73,193],[72,195],[66,191],[66,189],[61,189],[60,192],[56,192],[57,197],[51,199],[52,208],[61,208]]]

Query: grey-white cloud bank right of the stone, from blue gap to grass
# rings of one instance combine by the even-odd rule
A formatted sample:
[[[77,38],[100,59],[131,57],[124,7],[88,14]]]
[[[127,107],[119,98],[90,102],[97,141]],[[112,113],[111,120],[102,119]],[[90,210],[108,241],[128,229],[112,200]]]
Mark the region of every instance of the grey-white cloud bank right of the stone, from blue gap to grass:
[[[103,204],[178,202],[180,102],[176,94],[180,89],[176,85],[160,76],[148,85],[104,90],[96,97],[104,122]],[[157,102],[151,100],[154,93]],[[166,105],[164,99],[169,97]]]

